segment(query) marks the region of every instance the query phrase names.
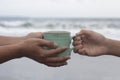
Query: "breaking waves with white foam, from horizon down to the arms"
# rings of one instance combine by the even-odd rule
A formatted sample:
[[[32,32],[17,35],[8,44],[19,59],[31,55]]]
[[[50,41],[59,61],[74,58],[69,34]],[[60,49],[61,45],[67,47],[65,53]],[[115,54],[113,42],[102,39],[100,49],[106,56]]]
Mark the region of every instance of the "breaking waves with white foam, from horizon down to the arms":
[[[108,35],[120,34],[120,20],[0,20],[0,35],[23,35],[29,32],[70,31],[72,35],[81,29],[91,29]]]

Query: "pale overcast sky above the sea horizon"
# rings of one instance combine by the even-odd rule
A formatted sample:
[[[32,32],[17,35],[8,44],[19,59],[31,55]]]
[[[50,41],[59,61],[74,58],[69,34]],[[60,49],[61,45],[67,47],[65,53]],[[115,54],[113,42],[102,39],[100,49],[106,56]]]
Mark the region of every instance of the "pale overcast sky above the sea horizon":
[[[120,0],[0,0],[0,16],[120,18]]]

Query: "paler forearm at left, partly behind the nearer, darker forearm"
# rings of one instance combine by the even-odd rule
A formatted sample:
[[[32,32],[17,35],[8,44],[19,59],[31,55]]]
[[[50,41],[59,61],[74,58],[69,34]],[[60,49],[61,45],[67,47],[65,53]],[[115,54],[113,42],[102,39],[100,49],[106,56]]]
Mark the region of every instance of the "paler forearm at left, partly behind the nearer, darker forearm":
[[[7,37],[0,36],[0,46],[15,44],[17,42],[25,40],[26,37]]]

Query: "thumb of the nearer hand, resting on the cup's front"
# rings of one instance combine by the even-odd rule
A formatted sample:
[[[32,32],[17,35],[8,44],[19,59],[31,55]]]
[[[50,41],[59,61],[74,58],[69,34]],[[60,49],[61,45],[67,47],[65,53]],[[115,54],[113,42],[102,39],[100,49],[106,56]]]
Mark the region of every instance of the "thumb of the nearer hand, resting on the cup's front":
[[[44,47],[48,47],[48,48],[56,48],[57,47],[57,43],[48,41],[48,40],[37,40],[37,44],[39,46],[44,46]]]

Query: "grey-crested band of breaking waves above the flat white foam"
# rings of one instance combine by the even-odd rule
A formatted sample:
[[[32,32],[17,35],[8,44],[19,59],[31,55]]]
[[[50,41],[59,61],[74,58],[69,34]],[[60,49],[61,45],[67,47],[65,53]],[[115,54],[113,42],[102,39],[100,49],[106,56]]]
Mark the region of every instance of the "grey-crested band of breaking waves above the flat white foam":
[[[62,28],[62,29],[103,29],[120,28],[120,21],[69,21],[69,20],[0,20],[0,27],[3,28]]]

